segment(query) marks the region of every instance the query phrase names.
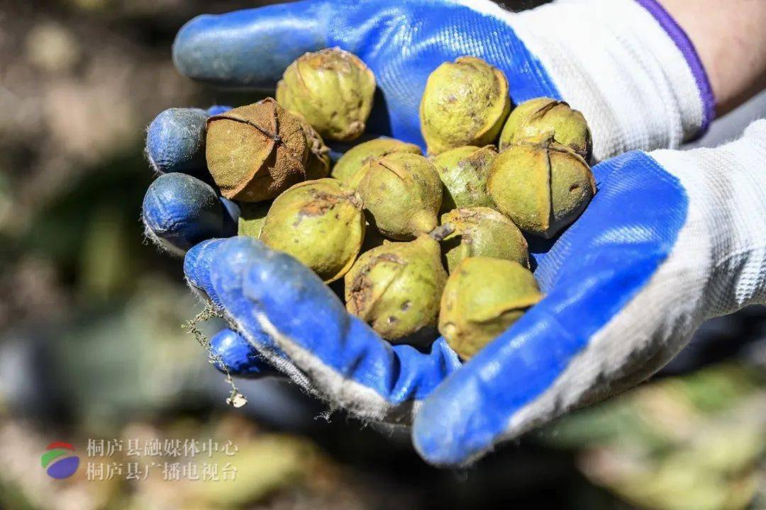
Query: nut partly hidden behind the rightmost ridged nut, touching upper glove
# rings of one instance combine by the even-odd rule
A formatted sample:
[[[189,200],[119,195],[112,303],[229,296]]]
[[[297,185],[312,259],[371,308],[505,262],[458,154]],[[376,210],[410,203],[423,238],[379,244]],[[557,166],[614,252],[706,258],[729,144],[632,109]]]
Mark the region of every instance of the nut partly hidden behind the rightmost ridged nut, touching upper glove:
[[[553,134],[554,140],[591,160],[593,140],[584,116],[568,103],[549,97],[522,102],[509,115],[500,134],[500,150],[510,145]]]

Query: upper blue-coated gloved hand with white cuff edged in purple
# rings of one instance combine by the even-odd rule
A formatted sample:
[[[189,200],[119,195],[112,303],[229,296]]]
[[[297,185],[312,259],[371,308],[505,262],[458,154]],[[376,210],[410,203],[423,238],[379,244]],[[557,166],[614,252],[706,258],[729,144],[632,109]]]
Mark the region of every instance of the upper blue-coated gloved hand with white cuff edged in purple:
[[[655,0],[558,0],[518,14],[489,0],[306,0],[194,18],[179,31],[173,58],[195,80],[273,89],[296,57],[333,46],[375,72],[381,94],[367,134],[421,146],[427,76],[462,55],[502,70],[516,103],[551,96],[581,110],[597,160],[674,148],[703,132],[715,110],[696,51]],[[146,137],[155,171],[209,182],[205,121],[225,109],[162,112]],[[175,254],[231,236],[234,204],[218,205],[212,188],[181,181],[157,182],[147,193],[147,236]]]

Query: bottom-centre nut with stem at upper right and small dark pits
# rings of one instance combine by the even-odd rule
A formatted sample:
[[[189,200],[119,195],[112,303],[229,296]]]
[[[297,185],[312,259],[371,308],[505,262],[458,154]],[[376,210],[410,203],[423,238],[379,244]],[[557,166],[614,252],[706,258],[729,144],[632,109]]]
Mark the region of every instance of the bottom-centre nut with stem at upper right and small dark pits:
[[[447,271],[429,236],[387,242],[362,253],[345,275],[345,303],[383,338],[396,342],[437,324]]]

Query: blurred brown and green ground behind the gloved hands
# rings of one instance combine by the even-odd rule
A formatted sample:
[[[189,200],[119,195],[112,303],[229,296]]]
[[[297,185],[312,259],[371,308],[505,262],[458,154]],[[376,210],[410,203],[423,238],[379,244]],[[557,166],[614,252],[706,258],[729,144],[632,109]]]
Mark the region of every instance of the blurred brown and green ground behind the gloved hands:
[[[467,472],[425,466],[406,435],[328,421],[283,382],[242,382],[250,403],[228,408],[180,327],[201,308],[180,262],[141,242],[142,130],[170,106],[249,102],[184,80],[170,43],[193,15],[260,3],[0,1],[0,508],[766,508],[757,307],[707,324],[647,385]],[[764,110],[755,99],[707,140]],[[89,438],[173,437],[237,443],[237,485],[83,467],[57,481],[40,466],[55,440],[84,463]]]

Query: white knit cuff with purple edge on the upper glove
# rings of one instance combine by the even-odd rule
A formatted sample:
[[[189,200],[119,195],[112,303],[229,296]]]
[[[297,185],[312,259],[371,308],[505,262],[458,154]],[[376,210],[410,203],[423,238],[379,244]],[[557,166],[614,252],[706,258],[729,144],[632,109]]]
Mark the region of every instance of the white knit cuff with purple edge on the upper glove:
[[[677,148],[715,113],[689,38],[655,0],[558,0],[518,14],[466,2],[503,18],[588,119],[594,157]]]

